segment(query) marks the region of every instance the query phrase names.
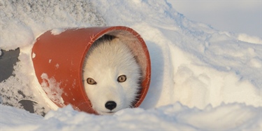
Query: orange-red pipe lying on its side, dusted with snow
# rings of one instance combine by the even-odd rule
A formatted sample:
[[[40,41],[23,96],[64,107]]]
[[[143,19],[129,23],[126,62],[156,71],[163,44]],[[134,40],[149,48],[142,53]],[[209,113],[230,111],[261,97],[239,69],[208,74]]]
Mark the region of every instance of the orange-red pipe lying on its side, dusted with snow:
[[[74,109],[96,113],[85,93],[82,67],[92,43],[101,36],[116,36],[131,48],[142,69],[142,90],[134,107],[139,106],[150,86],[150,55],[142,37],[129,27],[88,27],[52,29],[36,39],[31,57],[38,82],[48,99],[59,107],[71,104]]]

